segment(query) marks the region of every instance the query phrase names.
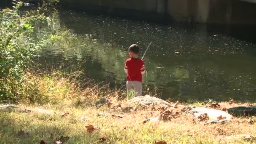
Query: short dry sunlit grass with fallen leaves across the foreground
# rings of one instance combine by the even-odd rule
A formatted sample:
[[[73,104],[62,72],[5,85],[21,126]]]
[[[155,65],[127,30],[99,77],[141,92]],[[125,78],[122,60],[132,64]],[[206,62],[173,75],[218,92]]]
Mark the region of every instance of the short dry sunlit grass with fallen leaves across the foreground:
[[[54,141],[50,138],[50,132],[54,136],[69,136],[67,143],[93,144],[104,137],[111,144],[153,144],[154,141],[166,141],[168,144],[244,144],[243,136],[238,138],[229,137],[237,135],[256,135],[256,125],[250,124],[247,118],[232,118],[228,124],[199,123],[187,114],[181,112],[187,104],[178,104],[173,109],[181,112],[177,118],[170,121],[144,120],[152,117],[159,117],[160,110],[157,106],[131,106],[126,101],[112,99],[112,106],[107,105],[96,107],[71,107],[58,105],[45,105],[44,109],[53,109],[53,115],[31,113],[4,113],[0,116],[0,142],[37,143],[40,140],[48,143]],[[120,107],[115,107],[116,105]],[[232,107],[228,103],[220,103],[224,107]],[[239,104],[234,104],[238,106]],[[246,105],[246,104],[243,104]],[[20,105],[23,109],[32,109]],[[152,110],[152,107],[156,109]],[[61,117],[63,112],[67,115]],[[105,116],[97,116],[97,113],[104,112]],[[82,118],[84,118],[83,121]],[[254,118],[252,118],[254,119]],[[93,125],[96,129],[88,133],[86,125]],[[19,129],[29,132],[29,137],[20,138],[14,133]],[[253,143],[253,141],[252,141]]]

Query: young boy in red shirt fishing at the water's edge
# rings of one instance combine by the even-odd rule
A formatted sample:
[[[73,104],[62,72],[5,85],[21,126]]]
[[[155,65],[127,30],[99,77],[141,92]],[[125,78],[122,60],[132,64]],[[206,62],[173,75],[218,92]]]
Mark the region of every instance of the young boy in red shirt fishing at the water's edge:
[[[127,74],[127,93],[134,90],[135,96],[142,94],[142,75],[145,73],[144,61],[139,59],[139,45],[133,44],[128,50],[130,58],[125,61],[125,72]]]

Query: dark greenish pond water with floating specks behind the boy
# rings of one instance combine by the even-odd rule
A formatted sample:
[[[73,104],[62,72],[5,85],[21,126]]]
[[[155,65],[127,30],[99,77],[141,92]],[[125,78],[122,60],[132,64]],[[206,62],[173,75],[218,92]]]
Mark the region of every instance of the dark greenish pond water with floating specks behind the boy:
[[[64,62],[49,50],[42,56],[47,64],[85,61],[86,76],[124,88],[128,47],[136,43],[143,54],[152,42],[143,83],[158,88],[163,99],[256,100],[253,27],[156,24],[74,11],[60,11],[59,20],[80,43],[69,48]]]

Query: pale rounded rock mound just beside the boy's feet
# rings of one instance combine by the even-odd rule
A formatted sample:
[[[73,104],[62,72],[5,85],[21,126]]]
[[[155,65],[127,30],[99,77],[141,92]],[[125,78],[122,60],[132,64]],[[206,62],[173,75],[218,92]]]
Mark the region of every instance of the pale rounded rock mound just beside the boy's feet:
[[[142,104],[142,105],[149,105],[149,104],[165,104],[165,105],[171,105],[167,101],[164,101],[163,99],[158,99],[154,96],[137,96],[134,97],[131,100],[128,100],[129,103],[136,103],[136,104]]]

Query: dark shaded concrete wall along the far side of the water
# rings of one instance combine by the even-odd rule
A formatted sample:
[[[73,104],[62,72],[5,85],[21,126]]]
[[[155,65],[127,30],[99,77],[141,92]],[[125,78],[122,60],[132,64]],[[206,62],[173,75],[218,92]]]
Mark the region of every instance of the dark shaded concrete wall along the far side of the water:
[[[256,24],[256,0],[61,0],[82,11],[189,23]]]

